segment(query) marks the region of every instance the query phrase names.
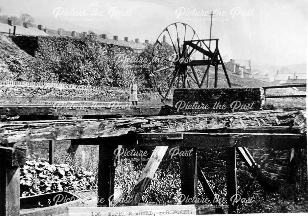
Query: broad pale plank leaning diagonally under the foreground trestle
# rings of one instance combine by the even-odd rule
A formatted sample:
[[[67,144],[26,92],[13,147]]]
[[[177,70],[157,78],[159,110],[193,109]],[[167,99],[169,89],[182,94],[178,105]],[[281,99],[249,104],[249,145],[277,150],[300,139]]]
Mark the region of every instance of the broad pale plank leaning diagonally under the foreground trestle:
[[[137,206],[141,200],[141,197],[144,194],[144,191],[147,189],[149,183],[151,182],[152,177],[154,176],[160,162],[163,160],[163,157],[168,149],[168,146],[157,146],[147,165],[144,167],[132,194],[129,198],[129,206]]]

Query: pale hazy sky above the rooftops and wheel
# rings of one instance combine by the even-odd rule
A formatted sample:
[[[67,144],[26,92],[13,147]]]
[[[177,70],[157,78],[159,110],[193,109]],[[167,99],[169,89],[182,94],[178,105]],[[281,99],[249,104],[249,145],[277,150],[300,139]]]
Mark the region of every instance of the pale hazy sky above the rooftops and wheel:
[[[0,15],[28,13],[36,24],[68,31],[110,32],[119,39],[156,41],[184,22],[200,39],[219,39],[221,55],[273,65],[307,63],[306,0],[2,0]],[[42,22],[42,23],[38,23]]]

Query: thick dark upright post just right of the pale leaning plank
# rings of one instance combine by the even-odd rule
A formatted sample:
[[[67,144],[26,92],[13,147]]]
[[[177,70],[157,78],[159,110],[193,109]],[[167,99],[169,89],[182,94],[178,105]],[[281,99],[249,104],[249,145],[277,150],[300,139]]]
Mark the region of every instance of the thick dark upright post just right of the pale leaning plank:
[[[197,199],[197,148],[196,147],[180,147],[180,151],[188,153],[188,156],[180,156],[181,170],[181,191],[186,198]],[[196,200],[195,199],[195,200]],[[193,203],[182,202],[182,205],[192,205]]]

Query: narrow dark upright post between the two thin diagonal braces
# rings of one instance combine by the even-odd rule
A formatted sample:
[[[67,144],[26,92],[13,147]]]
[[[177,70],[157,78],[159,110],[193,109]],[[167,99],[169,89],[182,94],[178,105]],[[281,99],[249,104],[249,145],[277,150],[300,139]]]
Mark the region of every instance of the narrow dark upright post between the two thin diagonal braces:
[[[236,183],[236,154],[235,147],[226,148],[226,180],[227,180],[227,203],[229,214],[237,214],[237,183]]]

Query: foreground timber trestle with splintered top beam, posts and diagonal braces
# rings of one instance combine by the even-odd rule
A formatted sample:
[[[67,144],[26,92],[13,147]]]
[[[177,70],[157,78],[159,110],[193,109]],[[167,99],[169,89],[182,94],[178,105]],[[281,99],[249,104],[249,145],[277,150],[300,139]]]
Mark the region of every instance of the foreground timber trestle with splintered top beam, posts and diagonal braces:
[[[296,115],[300,114],[298,112],[271,112],[274,112],[274,114],[270,114],[270,112],[267,113],[265,117],[267,118],[267,120],[270,120],[271,118],[276,118],[275,116],[277,116],[278,119],[282,122],[290,122],[293,118],[295,118],[294,115],[296,113]],[[260,112],[253,113],[259,113],[260,119],[262,119],[262,115],[260,114]],[[249,114],[247,115],[249,116]],[[247,115],[243,116],[243,118],[245,118],[246,120]],[[241,115],[233,114],[220,117],[228,118],[228,116],[234,117]],[[209,117],[210,115],[204,115],[206,121],[209,120]],[[235,157],[237,149],[242,148],[243,151],[237,150],[241,153],[245,152],[245,148],[294,149],[306,148],[307,145],[306,134],[301,134],[297,128],[286,126],[245,126],[242,128],[223,127],[203,129],[200,132],[163,132],[161,129],[156,129],[156,131],[161,132],[147,132],[151,128],[151,124],[158,124],[159,127],[163,127],[163,125],[166,124],[164,123],[166,118],[173,119],[173,121],[177,121],[177,118],[179,121],[182,121],[183,119],[192,120],[192,122],[194,121],[193,116],[178,116],[176,118],[175,116],[161,116],[139,118],[133,120],[106,119],[100,121],[98,124],[95,120],[58,120],[3,123],[2,125],[0,125],[0,142],[2,145],[0,147],[0,159],[7,161],[7,163],[5,163],[5,166],[2,167],[2,176],[0,178],[0,190],[6,191],[6,193],[2,194],[2,206],[5,206],[4,209],[1,209],[3,215],[19,215],[19,212],[17,211],[19,205],[18,168],[24,163],[25,155],[24,151],[9,147],[13,146],[13,143],[17,141],[49,140],[51,149],[53,148],[53,145],[56,145],[51,140],[72,140],[72,144],[74,143],[78,145],[99,145],[98,198],[104,198],[105,200],[103,203],[98,203],[99,206],[111,206],[111,203],[109,203],[108,198],[114,193],[115,155],[113,152],[114,149],[118,147],[118,145],[155,146],[156,148],[152,153],[152,156],[148,161],[146,168],[144,169],[143,173],[137,181],[137,185],[135,186],[131,194],[132,202],[129,203],[129,205],[137,205],[140,202],[142,194],[144,193],[149,182],[151,181],[168,147],[177,146],[180,147],[182,150],[193,148],[193,154],[191,156],[182,156],[180,158],[180,169],[182,173],[182,193],[185,195],[189,195],[190,197],[196,196],[196,185],[197,180],[199,180],[201,181],[201,184],[203,185],[207,196],[213,199],[215,198],[215,194],[213,193],[213,190],[210,188],[206,180],[205,173],[203,173],[198,166],[196,157],[197,149],[219,146],[224,147],[227,150],[227,192],[228,198],[230,198],[230,196],[237,193]],[[285,120],[283,120],[284,118]],[[200,119],[200,116],[198,117],[198,119],[202,124],[202,119]],[[219,119],[216,120],[217,124],[219,124]],[[159,121],[161,121],[160,124]],[[274,121],[277,121],[277,119]],[[191,122],[187,122],[185,124],[188,125],[191,124]],[[247,124],[251,124],[249,123],[249,120]],[[53,129],[50,127],[50,125],[53,125]],[[138,125],[140,125],[140,127],[138,127]],[[71,127],[74,128],[74,131],[71,131]],[[136,132],[134,133],[129,133],[129,131],[135,130],[133,129],[135,127],[139,129],[136,129]],[[58,133],[57,130],[55,130],[56,128],[59,128],[62,134]],[[155,130],[155,127],[152,129]],[[50,135],[48,135],[46,132],[48,132]],[[110,132],[112,135],[110,134]],[[251,167],[253,167],[252,164],[250,165]],[[12,170],[12,172],[10,170]],[[10,178],[10,176],[12,175],[14,177]],[[14,198],[14,202],[11,201],[12,198]],[[237,212],[236,205],[233,206],[230,202],[228,203],[228,205],[229,213]],[[7,214],[5,212],[11,213]],[[218,214],[225,213],[222,209],[219,208],[216,208],[216,212]],[[202,213],[202,210],[200,210],[199,213]]]

